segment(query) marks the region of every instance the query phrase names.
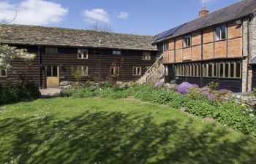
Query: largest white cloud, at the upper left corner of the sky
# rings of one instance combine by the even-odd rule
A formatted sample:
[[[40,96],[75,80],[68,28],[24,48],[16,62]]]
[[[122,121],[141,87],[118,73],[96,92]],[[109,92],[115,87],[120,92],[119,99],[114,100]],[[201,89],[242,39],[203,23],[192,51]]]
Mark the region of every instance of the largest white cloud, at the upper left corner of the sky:
[[[20,4],[0,2],[0,20],[12,20],[17,12],[17,17],[12,23],[25,25],[48,25],[59,23],[68,9],[51,1],[25,0]]]

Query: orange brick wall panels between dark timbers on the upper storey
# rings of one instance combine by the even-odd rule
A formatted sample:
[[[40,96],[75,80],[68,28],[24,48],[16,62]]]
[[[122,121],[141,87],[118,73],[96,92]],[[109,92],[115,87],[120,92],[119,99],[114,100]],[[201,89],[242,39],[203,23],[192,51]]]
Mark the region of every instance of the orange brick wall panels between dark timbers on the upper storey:
[[[227,23],[227,39],[222,41],[214,41],[214,27],[203,29],[203,43],[201,43],[201,31],[192,32],[192,46],[187,48],[183,48],[182,36],[177,37],[176,41],[171,39],[169,41],[169,51],[168,54],[166,54],[168,58],[164,57],[164,63],[179,63],[185,60],[242,57],[242,29],[241,25],[236,25],[236,21]],[[202,44],[203,58],[201,57]]]

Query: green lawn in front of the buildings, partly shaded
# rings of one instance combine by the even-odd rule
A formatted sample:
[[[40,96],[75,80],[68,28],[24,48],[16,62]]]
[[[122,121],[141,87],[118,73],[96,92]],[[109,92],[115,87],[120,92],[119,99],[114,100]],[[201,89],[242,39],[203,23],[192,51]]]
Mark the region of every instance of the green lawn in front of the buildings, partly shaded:
[[[140,101],[39,99],[0,107],[0,163],[256,163],[256,139]]]

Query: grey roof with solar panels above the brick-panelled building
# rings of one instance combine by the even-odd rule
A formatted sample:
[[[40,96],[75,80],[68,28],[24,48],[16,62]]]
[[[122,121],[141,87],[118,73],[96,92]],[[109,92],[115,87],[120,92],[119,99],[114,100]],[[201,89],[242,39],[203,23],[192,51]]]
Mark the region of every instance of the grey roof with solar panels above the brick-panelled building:
[[[230,5],[223,9],[219,9],[216,12],[211,12],[203,17],[198,17],[184,26],[178,29],[173,35],[167,36],[163,39],[154,40],[153,44],[157,42],[162,42],[166,39],[171,39],[177,36],[188,34],[192,31],[197,31],[201,28],[206,28],[208,26],[214,26],[220,23],[225,23],[230,20],[236,20],[241,17],[246,17],[256,11],[256,0],[243,0],[236,4]]]

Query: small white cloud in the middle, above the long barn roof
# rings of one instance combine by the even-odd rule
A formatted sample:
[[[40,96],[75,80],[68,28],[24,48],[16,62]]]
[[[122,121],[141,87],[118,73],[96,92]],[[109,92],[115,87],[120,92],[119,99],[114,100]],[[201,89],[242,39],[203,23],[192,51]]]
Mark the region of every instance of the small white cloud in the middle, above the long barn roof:
[[[89,23],[96,23],[97,21],[110,23],[110,16],[104,9],[85,9],[83,10],[83,16],[86,17],[86,21]]]

